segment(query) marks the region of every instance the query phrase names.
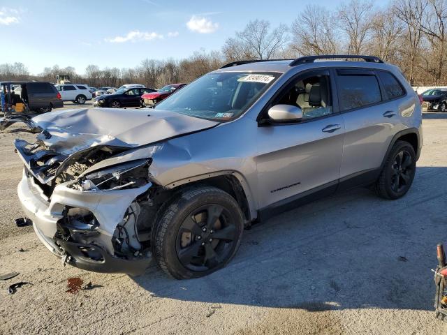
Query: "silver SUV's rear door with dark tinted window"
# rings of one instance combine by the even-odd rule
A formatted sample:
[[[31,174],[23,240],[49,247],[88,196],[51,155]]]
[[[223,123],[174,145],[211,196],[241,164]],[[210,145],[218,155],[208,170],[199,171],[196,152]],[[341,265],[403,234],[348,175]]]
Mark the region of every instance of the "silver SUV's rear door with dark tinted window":
[[[400,130],[399,101],[404,88],[388,71],[351,68],[336,72],[339,107],[346,128],[340,177],[363,175],[373,180],[388,145]],[[381,85],[379,76],[387,81],[388,88]]]

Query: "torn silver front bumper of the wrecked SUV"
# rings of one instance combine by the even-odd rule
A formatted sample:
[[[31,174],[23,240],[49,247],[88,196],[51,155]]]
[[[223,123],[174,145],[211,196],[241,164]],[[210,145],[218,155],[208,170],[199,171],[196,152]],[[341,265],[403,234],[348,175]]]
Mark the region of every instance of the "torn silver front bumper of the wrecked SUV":
[[[34,177],[24,170],[17,194],[26,216],[42,243],[70,265],[89,271],[105,273],[142,274],[152,265],[149,251],[137,255],[117,255],[112,244],[117,225],[122,223],[129,205],[152,184],[140,188],[78,191],[68,187],[71,182],[59,184],[49,200]],[[77,227],[81,241],[61,238],[58,228],[64,229],[66,209],[90,211],[96,227]],[[84,229],[83,229],[84,228]],[[90,255],[95,255],[91,257]]]

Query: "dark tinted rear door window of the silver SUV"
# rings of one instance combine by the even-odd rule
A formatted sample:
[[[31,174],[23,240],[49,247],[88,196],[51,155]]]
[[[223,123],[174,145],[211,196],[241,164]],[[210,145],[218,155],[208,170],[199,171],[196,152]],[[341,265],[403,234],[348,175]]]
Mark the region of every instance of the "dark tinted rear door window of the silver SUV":
[[[379,82],[375,75],[339,75],[337,90],[342,111],[382,101]]]

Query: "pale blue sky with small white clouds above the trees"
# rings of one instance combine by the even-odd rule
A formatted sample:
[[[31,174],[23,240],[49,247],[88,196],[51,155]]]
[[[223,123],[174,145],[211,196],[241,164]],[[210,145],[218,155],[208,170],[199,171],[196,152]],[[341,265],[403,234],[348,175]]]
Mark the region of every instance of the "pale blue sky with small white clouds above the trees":
[[[55,64],[83,74],[89,64],[131,68],[146,58],[182,59],[221,50],[250,20],[289,25],[307,4],[332,10],[341,2],[0,0],[0,64],[22,62],[34,75]]]

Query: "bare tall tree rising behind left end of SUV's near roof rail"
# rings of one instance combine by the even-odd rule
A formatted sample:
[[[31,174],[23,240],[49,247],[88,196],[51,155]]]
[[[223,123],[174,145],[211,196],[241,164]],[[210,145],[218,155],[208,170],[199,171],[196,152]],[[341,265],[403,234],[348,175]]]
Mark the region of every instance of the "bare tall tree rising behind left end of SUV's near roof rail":
[[[338,29],[333,15],[321,6],[307,5],[291,26],[291,49],[302,55],[336,54],[339,50]]]

